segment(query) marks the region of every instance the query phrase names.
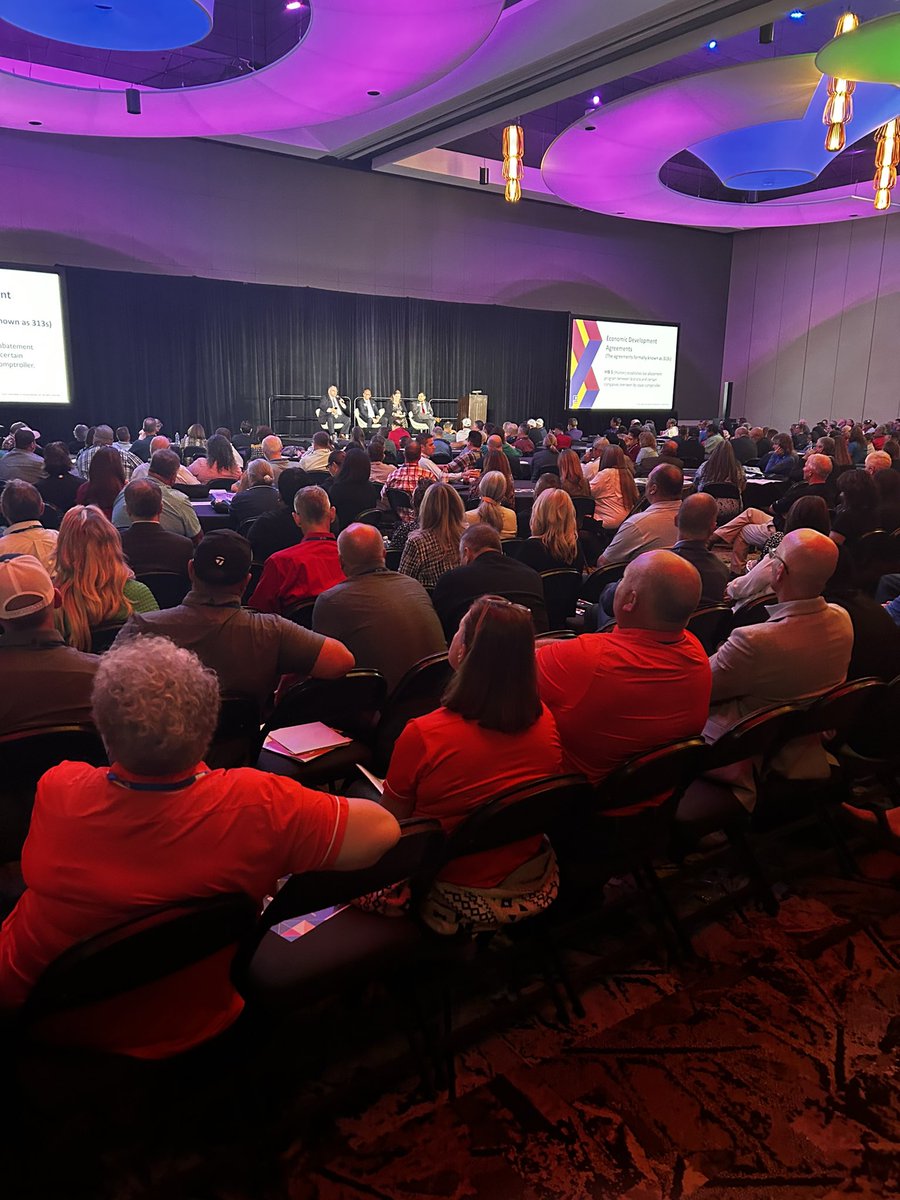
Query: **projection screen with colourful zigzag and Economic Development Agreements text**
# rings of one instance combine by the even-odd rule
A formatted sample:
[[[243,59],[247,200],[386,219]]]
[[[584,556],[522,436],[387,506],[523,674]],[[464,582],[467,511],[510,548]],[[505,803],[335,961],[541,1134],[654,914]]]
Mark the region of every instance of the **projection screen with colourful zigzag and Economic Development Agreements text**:
[[[678,325],[572,317],[568,404],[584,412],[667,412],[674,404]]]

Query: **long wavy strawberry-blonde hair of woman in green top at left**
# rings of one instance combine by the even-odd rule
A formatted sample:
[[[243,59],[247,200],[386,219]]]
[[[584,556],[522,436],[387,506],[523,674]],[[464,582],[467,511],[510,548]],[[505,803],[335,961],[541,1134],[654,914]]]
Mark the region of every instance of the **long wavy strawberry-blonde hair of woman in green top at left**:
[[[56,623],[68,644],[91,647],[91,630],[132,613],[125,565],[115,528],[94,504],[77,504],[62,517],[56,541],[55,583],[60,606]]]

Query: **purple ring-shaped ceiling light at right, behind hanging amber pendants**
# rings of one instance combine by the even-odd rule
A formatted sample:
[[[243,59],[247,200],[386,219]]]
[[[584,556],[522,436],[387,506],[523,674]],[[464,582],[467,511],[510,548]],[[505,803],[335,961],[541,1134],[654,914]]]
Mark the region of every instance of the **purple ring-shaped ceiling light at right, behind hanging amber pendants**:
[[[800,122],[820,80],[814,55],[802,54],[709,71],[625,96],[556,138],[544,156],[544,181],[578,208],[672,224],[760,229],[869,217],[871,197],[857,185],[746,204],[688,196],[660,179],[674,155],[744,130],[750,114],[763,133],[768,122]],[[817,132],[821,138],[821,121]]]

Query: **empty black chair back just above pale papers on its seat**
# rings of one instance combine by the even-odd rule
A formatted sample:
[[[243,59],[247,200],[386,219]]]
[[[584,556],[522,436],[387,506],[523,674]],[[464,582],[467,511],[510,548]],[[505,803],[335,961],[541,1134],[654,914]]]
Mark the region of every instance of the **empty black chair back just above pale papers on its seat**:
[[[356,668],[342,679],[306,679],[282,696],[265,733],[322,721],[349,737],[370,737],[386,695],[384,676],[377,671]]]

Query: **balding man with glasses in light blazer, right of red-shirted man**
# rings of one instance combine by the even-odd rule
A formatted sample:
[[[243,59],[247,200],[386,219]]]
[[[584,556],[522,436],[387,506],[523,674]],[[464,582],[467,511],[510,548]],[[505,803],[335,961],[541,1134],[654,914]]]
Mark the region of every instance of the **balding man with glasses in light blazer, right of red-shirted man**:
[[[821,533],[796,529],[785,535],[774,558],[772,587],[778,602],[769,607],[769,619],[732,630],[710,660],[713,708],[704,730],[710,739],[750,713],[812,700],[847,677],[853,625],[844,608],[822,599],[838,565],[838,547]],[[792,779],[828,773],[818,737],[791,742],[774,767]],[[728,782],[736,803],[752,809],[750,764],[730,772]]]

